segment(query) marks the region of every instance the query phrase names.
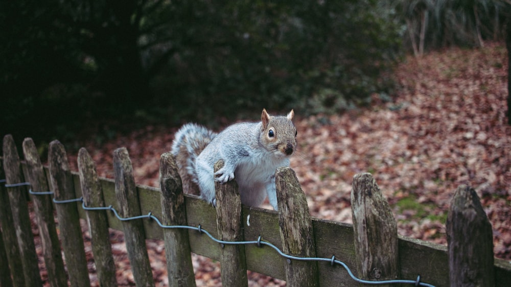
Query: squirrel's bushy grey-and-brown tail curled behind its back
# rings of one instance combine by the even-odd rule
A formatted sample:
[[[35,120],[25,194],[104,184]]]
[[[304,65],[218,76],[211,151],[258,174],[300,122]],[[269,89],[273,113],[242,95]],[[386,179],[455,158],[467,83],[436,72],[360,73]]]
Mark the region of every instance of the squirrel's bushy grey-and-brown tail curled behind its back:
[[[176,132],[171,152],[176,157],[184,193],[200,195],[195,160],[216,135],[196,124],[185,124]]]

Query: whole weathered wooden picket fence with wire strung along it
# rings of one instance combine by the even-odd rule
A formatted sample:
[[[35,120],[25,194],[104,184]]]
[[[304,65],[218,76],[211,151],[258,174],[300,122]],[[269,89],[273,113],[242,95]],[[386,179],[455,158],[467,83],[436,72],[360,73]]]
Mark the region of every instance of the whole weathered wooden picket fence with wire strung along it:
[[[191,252],[219,260],[225,286],[247,285],[246,270],[284,279],[289,286],[358,285],[343,264],[355,276],[371,281],[407,279],[435,286],[508,286],[511,282],[511,264],[494,258],[490,222],[468,186],[458,187],[452,200],[447,221],[449,245],[445,247],[399,236],[387,201],[367,173],[353,180],[354,224],[350,225],[311,218],[305,194],[289,168],[280,168],[275,175],[278,212],[241,206],[235,181],[216,186],[215,208],[195,196],[183,195],[169,153],[160,159],[159,189],[135,185],[124,148],[114,151],[114,180],[98,177],[85,149],[79,152],[79,173],[73,173],[58,141],[50,144],[48,168],[41,165],[32,139],[25,139],[22,148],[24,162],[12,137],[4,137],[0,165],[0,179],[6,179],[0,184],[2,287],[42,284],[27,186],[52,286],[90,285],[80,218],[89,222],[101,286],[117,285],[108,227],[125,233],[137,286],[154,285],[146,238],[164,240],[172,286],[195,285]],[[83,203],[77,201],[81,197]],[[182,227],[173,228],[176,226]],[[232,242],[242,244],[229,244]],[[69,272],[65,272],[61,248]]]

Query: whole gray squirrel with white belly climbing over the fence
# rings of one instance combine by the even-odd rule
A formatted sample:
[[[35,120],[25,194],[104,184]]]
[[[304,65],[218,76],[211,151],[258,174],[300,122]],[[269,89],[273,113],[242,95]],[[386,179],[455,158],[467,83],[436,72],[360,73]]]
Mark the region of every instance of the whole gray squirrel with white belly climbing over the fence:
[[[236,176],[241,203],[259,206],[266,196],[277,210],[275,171],[289,166],[296,150],[294,111],[270,116],[266,109],[259,123],[239,123],[215,133],[196,124],[185,124],[175,134],[172,154],[176,157],[185,193],[197,194],[216,204],[215,181],[225,183]],[[213,165],[224,160],[222,169]]]

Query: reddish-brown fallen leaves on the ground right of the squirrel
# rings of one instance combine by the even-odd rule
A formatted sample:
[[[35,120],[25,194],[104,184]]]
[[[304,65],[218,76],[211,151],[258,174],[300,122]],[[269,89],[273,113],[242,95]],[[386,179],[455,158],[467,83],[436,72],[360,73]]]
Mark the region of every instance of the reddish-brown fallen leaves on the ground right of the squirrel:
[[[299,121],[303,156],[292,166],[312,198],[311,213],[349,222],[336,215],[345,206],[331,204],[330,198],[349,199],[346,183],[367,171],[393,206],[400,234],[445,244],[450,199],[458,185],[469,184],[493,224],[495,255],[510,258],[502,235],[511,232],[505,63],[506,51],[498,44],[408,58],[397,70],[400,89],[392,102]],[[374,99],[378,102],[378,95]],[[401,210],[400,203],[410,197],[434,203],[427,217],[417,217],[416,208]]]

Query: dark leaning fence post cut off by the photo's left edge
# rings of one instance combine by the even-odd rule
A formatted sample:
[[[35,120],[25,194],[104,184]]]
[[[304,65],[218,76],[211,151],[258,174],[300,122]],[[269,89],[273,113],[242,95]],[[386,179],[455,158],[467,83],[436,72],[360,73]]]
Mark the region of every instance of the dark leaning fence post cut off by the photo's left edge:
[[[0,164],[0,179],[5,179],[3,163]],[[14,286],[25,286],[23,265],[21,264],[21,256],[19,256],[19,245],[16,238],[14,219],[12,218],[11,205],[9,203],[5,182],[0,183],[0,226],[6,226],[3,228],[2,238],[6,247],[5,252],[7,256],[7,261],[2,261],[2,266],[0,267],[5,268],[5,271],[10,270],[12,272],[16,270],[17,272],[12,272],[12,284],[14,284]],[[11,279],[11,272],[7,274],[9,278],[6,278],[4,281],[7,282]]]

